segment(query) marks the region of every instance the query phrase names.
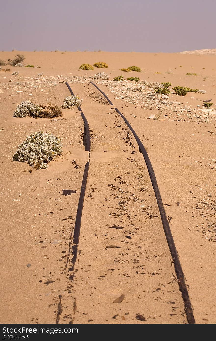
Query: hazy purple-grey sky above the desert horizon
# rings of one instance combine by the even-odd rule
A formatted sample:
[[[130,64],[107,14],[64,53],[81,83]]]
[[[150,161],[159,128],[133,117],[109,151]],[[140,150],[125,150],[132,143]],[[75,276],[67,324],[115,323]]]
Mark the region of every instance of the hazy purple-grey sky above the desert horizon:
[[[216,0],[5,0],[0,50],[216,48]]]

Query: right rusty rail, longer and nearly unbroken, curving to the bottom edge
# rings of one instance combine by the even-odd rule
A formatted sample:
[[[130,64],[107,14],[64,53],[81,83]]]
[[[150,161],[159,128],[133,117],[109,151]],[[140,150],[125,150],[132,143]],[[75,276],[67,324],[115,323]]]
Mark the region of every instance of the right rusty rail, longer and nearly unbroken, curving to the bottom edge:
[[[110,101],[110,99],[105,95],[105,93],[94,83],[89,82],[90,84],[92,84],[93,86],[95,86],[102,94],[103,96],[107,99],[107,101],[114,106],[114,104]],[[179,290],[182,293],[182,298],[184,300],[184,307],[185,307],[185,313],[186,313],[186,317],[187,317],[187,321],[189,324],[195,324],[195,318],[193,316],[193,309],[191,306],[191,302],[190,302],[190,298],[189,298],[189,294],[188,294],[188,290],[187,290],[187,286],[185,283],[185,277],[184,277],[184,273],[182,270],[182,266],[178,257],[178,253],[175,247],[175,243],[173,240],[173,236],[171,233],[171,229],[169,226],[169,222],[167,219],[167,214],[165,212],[164,206],[163,206],[163,202],[161,199],[161,195],[160,195],[160,191],[159,191],[159,187],[157,184],[157,179],[155,176],[155,172],[152,166],[152,163],[148,157],[148,154],[145,150],[145,147],[143,146],[140,138],[138,137],[138,135],[135,133],[135,131],[133,130],[133,128],[131,127],[130,123],[128,122],[128,120],[125,118],[125,116],[123,114],[120,113],[120,111],[115,108],[116,112],[123,118],[123,120],[125,121],[125,123],[127,124],[128,128],[130,129],[130,131],[132,132],[133,136],[136,139],[136,142],[138,143],[140,150],[143,154],[146,166],[148,168],[148,172],[149,172],[149,176],[150,179],[152,181],[152,186],[155,192],[155,197],[157,199],[157,204],[158,204],[158,208],[159,208],[159,212],[160,212],[160,217],[161,217],[161,221],[163,224],[163,229],[165,232],[165,236],[168,242],[168,246],[169,246],[169,250],[173,259],[173,263],[174,263],[174,268],[175,268],[175,272],[176,272],[176,276],[177,276],[177,280],[178,280],[178,284],[179,284]]]

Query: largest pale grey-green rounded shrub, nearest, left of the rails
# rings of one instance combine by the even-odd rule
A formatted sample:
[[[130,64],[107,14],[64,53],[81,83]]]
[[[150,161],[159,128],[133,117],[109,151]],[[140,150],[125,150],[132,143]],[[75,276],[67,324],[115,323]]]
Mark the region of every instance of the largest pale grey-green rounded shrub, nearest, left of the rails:
[[[13,155],[13,161],[28,162],[36,169],[47,168],[47,163],[62,153],[61,147],[59,137],[40,131],[27,136]]]

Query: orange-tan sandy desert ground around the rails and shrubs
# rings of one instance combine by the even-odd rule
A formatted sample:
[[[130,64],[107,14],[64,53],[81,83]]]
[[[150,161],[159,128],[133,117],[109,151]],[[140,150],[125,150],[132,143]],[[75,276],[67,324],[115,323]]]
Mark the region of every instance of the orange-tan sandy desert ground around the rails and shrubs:
[[[1,52],[0,59],[16,54]],[[1,323],[187,323],[142,154],[111,106],[87,81],[80,84],[80,78],[69,79],[73,91],[83,98],[82,109],[91,132],[89,177],[73,280],[69,245],[88,160],[83,120],[77,108],[63,109],[62,117],[51,120],[12,116],[23,100],[62,105],[70,94],[62,79],[89,77],[100,71],[112,79],[122,73],[119,68],[131,65],[140,66],[142,72],[127,76],[206,90],[205,95],[188,93],[185,97],[172,93],[170,100],[178,101],[182,108],[196,108],[207,99],[216,103],[216,56],[21,54],[26,57],[25,64],[40,68],[0,71]],[[78,69],[82,63],[96,61],[108,63],[109,68]],[[13,71],[19,75],[11,75]],[[38,78],[42,72],[43,78]],[[187,76],[187,72],[198,76]],[[151,120],[148,117],[157,116],[157,107],[120,100],[105,83],[99,86],[126,116],[148,151],[171,218],[196,323],[215,323],[216,112],[211,113],[211,120],[200,122],[196,117],[176,118],[168,108],[169,120],[163,115]],[[26,135],[40,130],[60,136],[63,154],[49,163],[48,169],[29,173],[31,167],[13,162],[12,156]],[[76,192],[65,196],[64,189]]]

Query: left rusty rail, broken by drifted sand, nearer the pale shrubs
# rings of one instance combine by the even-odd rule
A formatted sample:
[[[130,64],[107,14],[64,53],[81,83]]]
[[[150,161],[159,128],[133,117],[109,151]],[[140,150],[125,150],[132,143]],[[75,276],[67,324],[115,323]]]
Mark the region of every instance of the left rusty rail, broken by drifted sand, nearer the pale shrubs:
[[[74,93],[68,83],[66,83],[70,93],[72,96],[74,96]],[[77,249],[78,249],[78,243],[79,243],[79,236],[80,236],[80,227],[81,227],[81,220],[82,220],[82,213],[83,213],[83,203],[84,203],[84,198],[85,198],[85,192],[86,192],[86,183],[87,183],[87,178],[88,178],[88,170],[89,170],[89,162],[90,162],[90,150],[91,150],[91,140],[90,140],[90,133],[89,133],[89,126],[88,126],[88,121],[82,112],[81,108],[78,107],[78,110],[81,111],[81,116],[85,124],[85,133],[86,133],[86,150],[89,152],[89,160],[85,165],[84,169],[84,174],[83,174],[83,181],[82,181],[82,186],[81,186],[81,191],[80,191],[80,197],[78,201],[78,206],[77,206],[77,212],[76,212],[76,220],[75,220],[75,225],[74,225],[74,233],[73,233],[73,246],[72,246],[72,267],[69,268],[69,271],[74,270],[74,264],[76,263],[76,258],[77,258]],[[71,279],[73,279],[73,275],[70,276]]]

